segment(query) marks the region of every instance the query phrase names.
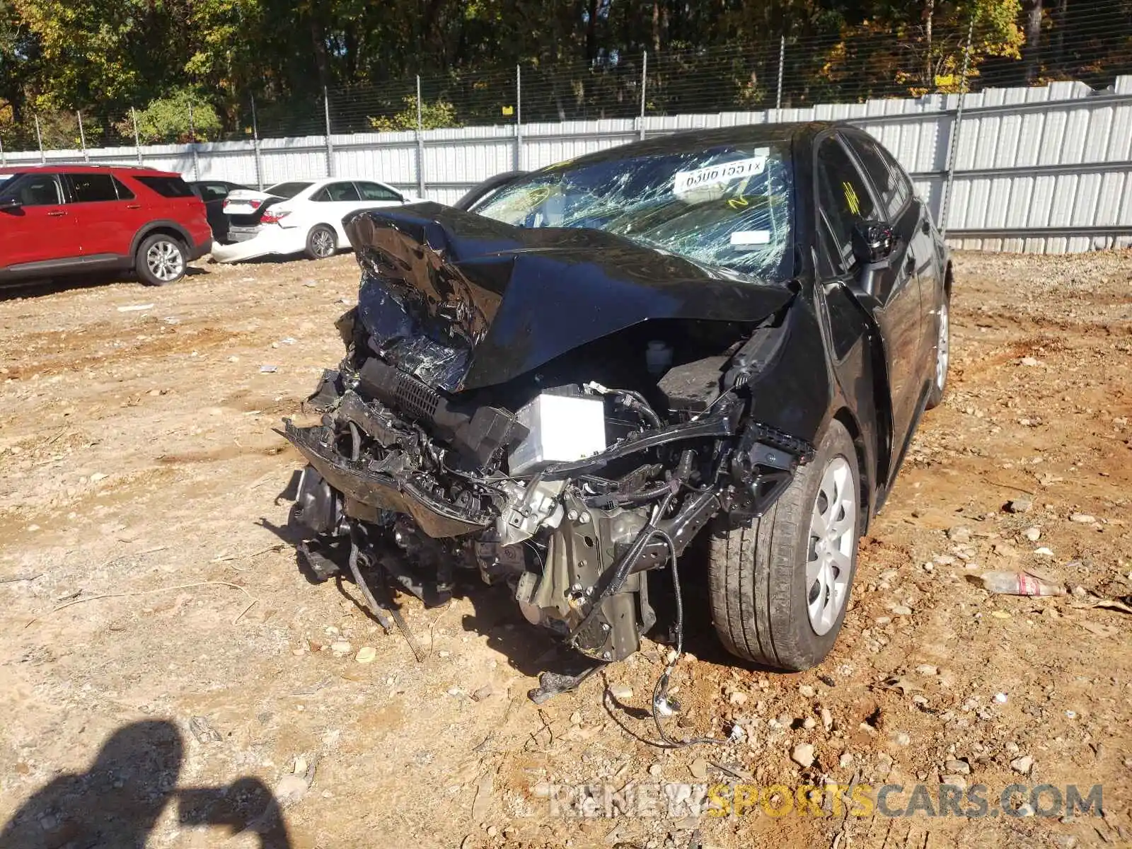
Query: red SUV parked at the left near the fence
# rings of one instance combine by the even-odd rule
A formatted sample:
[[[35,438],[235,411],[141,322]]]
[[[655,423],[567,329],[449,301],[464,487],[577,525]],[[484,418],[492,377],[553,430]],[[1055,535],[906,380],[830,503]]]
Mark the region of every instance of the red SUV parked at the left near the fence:
[[[0,282],[103,269],[173,283],[208,252],[205,205],[180,174],[130,165],[0,168]]]

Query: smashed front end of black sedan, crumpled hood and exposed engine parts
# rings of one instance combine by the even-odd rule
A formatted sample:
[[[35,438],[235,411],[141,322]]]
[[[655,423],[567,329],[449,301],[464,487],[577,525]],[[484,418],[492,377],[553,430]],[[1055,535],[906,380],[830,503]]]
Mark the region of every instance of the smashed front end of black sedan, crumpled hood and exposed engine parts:
[[[346,355],[309,401],[320,423],[285,422],[320,577],[369,567],[435,604],[478,573],[532,625],[620,660],[657,620],[645,573],[675,573],[709,523],[761,515],[813,456],[751,413],[786,284],[436,205],[348,229]]]

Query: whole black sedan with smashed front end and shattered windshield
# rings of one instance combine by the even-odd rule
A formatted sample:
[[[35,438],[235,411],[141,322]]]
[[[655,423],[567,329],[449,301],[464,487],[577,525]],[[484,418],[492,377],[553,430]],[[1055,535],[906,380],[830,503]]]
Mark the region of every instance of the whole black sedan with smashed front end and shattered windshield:
[[[466,571],[600,666],[667,571],[707,583],[736,655],[826,655],[947,375],[947,251],[880,144],[685,132],[346,228],[346,357],[321,423],[286,422],[318,575],[380,577],[385,621],[380,588],[443,602]],[[707,563],[679,559],[701,534]]]

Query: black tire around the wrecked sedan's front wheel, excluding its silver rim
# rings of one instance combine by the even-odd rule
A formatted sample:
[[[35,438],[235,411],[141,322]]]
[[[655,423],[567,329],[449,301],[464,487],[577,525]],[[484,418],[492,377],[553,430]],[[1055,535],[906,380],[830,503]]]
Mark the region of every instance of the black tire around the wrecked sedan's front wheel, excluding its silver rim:
[[[839,458],[846,463],[837,462]],[[813,584],[807,586],[806,567],[812,556],[811,521],[826,470],[835,470],[844,491],[852,494],[854,515],[851,528],[846,526],[841,532],[842,544],[851,540],[843,601],[829,629],[820,634],[808,612]],[[814,461],[798,469],[789,488],[762,518],[712,535],[709,567],[712,620],[729,652],[789,670],[809,669],[829,654],[849,608],[857,571],[860,505],[857,452],[844,426],[834,420]],[[843,525],[844,521],[838,524]],[[841,557],[844,559],[843,554]],[[835,581],[840,580],[838,569]]]

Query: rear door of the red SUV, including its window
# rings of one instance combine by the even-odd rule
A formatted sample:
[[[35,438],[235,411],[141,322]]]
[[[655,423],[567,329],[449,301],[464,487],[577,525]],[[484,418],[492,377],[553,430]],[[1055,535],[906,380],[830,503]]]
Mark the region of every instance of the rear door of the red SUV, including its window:
[[[115,181],[104,171],[63,174],[70,198],[67,208],[78,225],[84,257],[125,257],[130,254],[130,242],[139,226],[135,222],[145,217],[146,211],[132,191],[127,190],[119,198],[115,182],[121,186],[121,181]]]

